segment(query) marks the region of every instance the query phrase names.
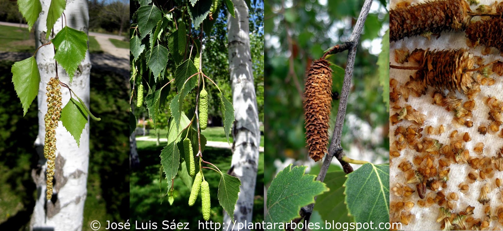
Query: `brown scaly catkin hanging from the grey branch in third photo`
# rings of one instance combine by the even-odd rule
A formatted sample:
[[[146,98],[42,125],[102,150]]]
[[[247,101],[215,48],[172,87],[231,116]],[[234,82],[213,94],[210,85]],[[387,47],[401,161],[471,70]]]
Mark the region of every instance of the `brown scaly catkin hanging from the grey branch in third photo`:
[[[328,121],[332,108],[332,69],[325,59],[315,60],[306,74],[304,109],[309,157],[323,159],[328,144]]]

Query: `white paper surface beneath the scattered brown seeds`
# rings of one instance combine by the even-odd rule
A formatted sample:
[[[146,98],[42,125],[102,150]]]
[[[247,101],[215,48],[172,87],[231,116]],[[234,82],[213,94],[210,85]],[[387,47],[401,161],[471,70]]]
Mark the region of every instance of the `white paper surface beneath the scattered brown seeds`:
[[[426,1],[412,1],[412,4],[419,4],[423,3]],[[395,9],[396,4],[398,1],[391,1],[390,7],[391,9]],[[484,1],[481,0],[480,4],[485,4],[485,5],[492,5],[494,1]],[[472,11],[475,11],[477,6],[471,5],[470,6]],[[480,17],[475,17],[472,20],[479,20]],[[481,56],[485,59],[484,63],[491,62],[493,60],[497,59],[503,59],[499,55],[499,51],[497,51],[495,48],[492,48],[495,53],[492,55],[485,55],[482,56],[482,49],[484,48],[483,46],[478,46],[475,48],[469,48],[467,46],[467,38],[465,36],[465,33],[463,31],[460,32],[444,32],[441,34],[440,38],[436,38],[437,36],[433,35],[431,38],[431,41],[429,41],[427,38],[422,37],[422,36],[417,36],[417,37],[412,37],[412,38],[405,38],[396,42],[391,42],[390,44],[390,64],[391,65],[398,65],[398,66],[411,66],[411,65],[416,65],[411,62],[405,62],[404,64],[396,63],[394,61],[394,50],[395,49],[408,49],[410,52],[412,52],[415,48],[422,48],[422,49],[427,49],[430,48],[430,50],[443,50],[443,49],[468,49],[468,51],[476,56]],[[478,66],[475,66],[478,67]],[[409,75],[414,75],[415,70],[400,70],[400,69],[390,69],[390,78],[396,79],[399,84],[398,86],[403,86],[408,80],[409,80]],[[420,111],[420,113],[426,115],[426,122],[424,127],[423,137],[430,137],[433,139],[438,139],[441,143],[443,144],[449,144],[449,135],[453,130],[458,130],[458,134],[464,134],[465,132],[468,132],[470,136],[472,137],[472,140],[467,142],[465,144],[465,147],[470,150],[470,157],[483,157],[483,156],[496,156],[496,153],[499,152],[499,149],[503,147],[503,138],[499,138],[497,134],[487,134],[481,135],[477,132],[478,126],[480,125],[488,125],[490,124],[491,120],[488,119],[488,112],[489,108],[483,103],[482,99],[483,97],[486,96],[495,96],[498,100],[503,101],[503,78],[498,76],[497,74],[493,73],[491,78],[495,78],[495,84],[493,86],[480,86],[481,92],[480,94],[475,98],[475,103],[476,103],[476,109],[473,110],[473,127],[468,128],[464,125],[453,125],[452,121],[454,118],[454,112],[448,112],[444,107],[438,106],[438,105],[433,105],[433,99],[432,99],[432,93],[435,91],[434,88],[429,87],[427,90],[426,95],[423,95],[420,98],[414,97],[412,94],[410,94],[410,97],[408,99],[408,102],[405,102],[403,98],[400,98],[398,101],[398,105],[405,107],[406,104],[409,104],[412,106],[412,108]],[[447,91],[446,91],[447,93]],[[456,97],[458,99],[463,99],[463,102],[466,102],[468,98],[466,95],[456,92]],[[390,116],[395,114],[397,111],[390,109]],[[390,145],[393,146],[393,142],[395,141],[394,137],[394,131],[398,126],[403,126],[403,127],[408,127],[412,123],[410,121],[403,120],[396,125],[390,125]],[[427,126],[433,126],[434,130],[438,129],[438,127],[443,124],[445,126],[445,132],[441,135],[427,135],[426,133],[426,127]],[[502,126],[500,126],[501,129]],[[478,142],[483,142],[484,143],[484,151],[482,155],[478,156],[476,153],[473,151],[473,147],[476,143]],[[391,149],[393,149],[391,147]],[[403,185],[406,184],[406,179],[405,179],[405,174],[401,170],[398,169],[398,165],[404,161],[408,160],[412,162],[412,159],[414,155],[418,155],[415,150],[411,150],[408,147],[404,148],[402,151],[400,151],[400,157],[398,158],[393,158],[391,163],[390,163],[390,189],[393,188],[396,183],[401,183]],[[443,156],[443,155],[442,155]],[[438,159],[438,156],[436,156]],[[438,166],[438,161],[437,161],[437,166]],[[485,214],[483,214],[483,206],[481,203],[479,203],[477,200],[480,195],[480,189],[484,184],[487,184],[492,191],[488,193],[488,196],[490,198],[489,204],[492,207],[492,212],[496,212],[496,207],[502,205],[500,201],[500,196],[501,193],[499,192],[499,189],[493,189],[494,185],[494,180],[496,178],[499,178],[503,180],[503,172],[498,172],[496,170],[494,176],[492,179],[488,179],[487,182],[485,181],[477,181],[473,184],[468,184],[469,185],[469,190],[466,194],[463,194],[459,191],[458,185],[461,182],[467,182],[467,175],[473,169],[466,165],[458,165],[458,164],[451,164],[449,167],[451,171],[449,174],[449,181],[447,182],[447,188],[444,189],[445,195],[449,195],[451,192],[456,192],[458,193],[458,196],[460,199],[455,203],[455,209],[454,212],[458,213],[460,211],[463,211],[468,205],[475,206],[474,209],[474,218],[481,218],[483,219],[486,217]],[[416,169],[416,167],[413,167],[413,169]],[[478,171],[477,171],[478,173]],[[415,184],[409,184],[408,185],[410,188],[413,190],[416,190]],[[503,187],[502,187],[503,188]],[[431,192],[431,190],[427,189],[427,194]],[[502,192],[503,193],[503,192]],[[421,208],[420,206],[417,205],[417,201],[420,200],[421,198],[418,196],[417,192],[414,192],[409,198],[400,198],[397,197],[393,194],[393,191],[390,190],[390,203],[396,202],[399,200],[411,200],[414,202],[414,207],[412,210],[410,210],[411,214],[415,215],[415,219],[412,219],[408,225],[402,225],[402,230],[441,230],[441,223],[437,223],[437,216],[439,214],[439,205],[434,204],[429,208]],[[426,197],[425,197],[426,199]],[[455,202],[455,201],[452,201]],[[487,205],[487,204],[486,204]],[[493,220],[490,222],[489,229],[503,229],[503,225],[501,225],[497,220]]]

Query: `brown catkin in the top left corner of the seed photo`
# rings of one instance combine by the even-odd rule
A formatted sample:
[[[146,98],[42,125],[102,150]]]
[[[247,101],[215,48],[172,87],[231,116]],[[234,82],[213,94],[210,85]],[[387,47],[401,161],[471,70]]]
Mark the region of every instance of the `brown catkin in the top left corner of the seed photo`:
[[[460,30],[466,27],[470,12],[465,0],[435,1],[391,10],[389,39],[393,42],[425,32]]]

